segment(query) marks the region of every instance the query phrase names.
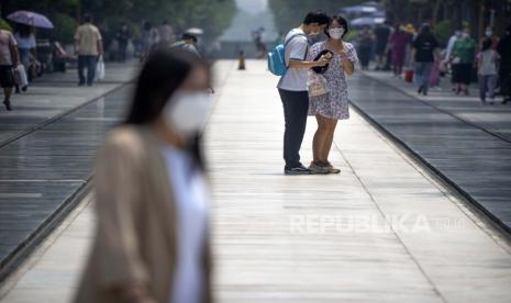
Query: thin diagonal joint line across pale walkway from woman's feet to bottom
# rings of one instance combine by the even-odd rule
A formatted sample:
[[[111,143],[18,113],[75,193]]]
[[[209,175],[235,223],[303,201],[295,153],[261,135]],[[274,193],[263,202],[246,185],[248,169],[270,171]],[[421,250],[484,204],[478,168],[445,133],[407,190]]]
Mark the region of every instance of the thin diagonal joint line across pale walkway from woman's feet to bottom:
[[[369,199],[373,201],[373,203],[375,204],[376,209],[378,210],[378,212],[381,214],[381,216],[384,217],[385,222],[387,223],[387,225],[390,227],[389,229],[392,231],[392,234],[393,236],[398,239],[398,242],[401,244],[402,248],[404,249],[404,251],[407,252],[407,255],[412,259],[413,263],[415,263],[416,268],[419,269],[419,271],[424,276],[424,278],[427,280],[427,282],[430,283],[430,285],[432,287],[433,289],[433,292],[442,300],[442,302],[445,302],[447,303],[446,299],[444,298],[444,295],[440,292],[440,290],[437,289],[436,284],[433,282],[433,280],[430,278],[430,276],[425,272],[425,270],[422,268],[421,263],[419,262],[419,260],[413,256],[413,254],[410,251],[410,249],[408,248],[408,246],[404,244],[404,242],[402,240],[402,238],[399,236],[399,234],[397,233],[397,231],[393,228],[392,224],[390,224],[387,215],[385,214],[385,212],[381,210],[379,203],[376,201],[375,197],[373,195],[373,193],[370,193],[369,189],[366,187],[366,184],[364,183],[364,181],[362,180],[360,176],[358,176],[358,173],[356,172],[355,168],[352,166],[352,164],[349,162],[349,160],[346,158],[346,155],[344,155],[343,150],[340,148],[340,146],[337,145],[336,142],[334,142],[334,146],[335,146],[335,149],[337,149],[337,152],[341,154],[341,157],[343,157],[344,161],[346,161],[346,165],[349,167],[349,169],[352,170],[353,175],[355,176],[355,178],[357,179],[357,181],[360,183],[360,186],[363,187],[364,191],[367,193],[367,195],[369,195]]]

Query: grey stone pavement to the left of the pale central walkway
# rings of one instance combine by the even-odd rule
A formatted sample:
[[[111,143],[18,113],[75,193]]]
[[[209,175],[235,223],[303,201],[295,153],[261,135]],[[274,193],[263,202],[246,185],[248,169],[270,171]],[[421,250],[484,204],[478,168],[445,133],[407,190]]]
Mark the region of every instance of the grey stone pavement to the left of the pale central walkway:
[[[14,111],[0,110],[2,274],[87,184],[97,145],[126,100],[127,89],[112,91],[133,79],[135,68],[109,65],[92,88],[76,87],[76,70],[47,75],[13,96]]]

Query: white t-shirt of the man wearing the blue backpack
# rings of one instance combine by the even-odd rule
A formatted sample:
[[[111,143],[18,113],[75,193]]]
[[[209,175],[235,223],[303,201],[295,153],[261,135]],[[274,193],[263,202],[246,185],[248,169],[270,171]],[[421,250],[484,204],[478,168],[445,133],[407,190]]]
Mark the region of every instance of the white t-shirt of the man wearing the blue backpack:
[[[291,30],[286,35],[286,42],[296,34],[304,35],[302,30],[295,29]],[[287,45],[286,45],[286,65],[289,65],[290,59],[297,60],[304,60],[307,58],[307,53],[309,49],[309,41],[307,36],[295,36]],[[278,82],[278,88],[284,90],[291,90],[291,91],[307,91],[307,76],[308,76],[309,68],[288,68],[286,74],[280,77],[280,81]]]

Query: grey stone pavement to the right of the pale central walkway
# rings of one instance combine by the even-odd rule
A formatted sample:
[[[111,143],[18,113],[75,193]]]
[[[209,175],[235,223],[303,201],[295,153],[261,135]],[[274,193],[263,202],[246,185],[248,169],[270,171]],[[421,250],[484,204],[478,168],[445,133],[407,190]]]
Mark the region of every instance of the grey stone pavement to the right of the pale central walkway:
[[[511,106],[358,74],[353,103],[511,233]],[[397,89],[391,89],[397,88]]]

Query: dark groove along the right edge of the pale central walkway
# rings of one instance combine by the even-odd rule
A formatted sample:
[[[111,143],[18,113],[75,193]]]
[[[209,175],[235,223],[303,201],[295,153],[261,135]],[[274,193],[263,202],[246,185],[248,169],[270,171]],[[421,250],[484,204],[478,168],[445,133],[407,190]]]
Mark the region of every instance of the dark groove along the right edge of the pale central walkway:
[[[427,168],[433,175],[436,175],[445,183],[446,187],[451,188],[454,192],[456,192],[460,197],[463,197],[464,198],[463,200],[468,202],[468,203],[466,203],[467,206],[469,206],[470,209],[474,209],[474,211],[477,211],[478,213],[480,213],[481,218],[484,218],[485,222],[488,222],[489,224],[491,224],[492,227],[495,227],[496,231],[500,232],[502,238],[506,242],[508,242],[509,244],[511,244],[511,228],[509,228],[500,218],[498,218],[496,215],[493,215],[491,212],[489,212],[477,200],[471,198],[469,193],[467,193],[465,190],[463,190],[460,187],[458,187],[454,181],[452,181],[449,178],[447,178],[442,171],[440,171],[432,164],[430,164],[418,152],[413,150],[413,148],[408,146],[407,143],[404,143],[397,135],[395,135],[393,133],[388,131],[382,124],[377,122],[369,114],[367,114],[364,110],[362,110],[362,108],[359,108],[355,102],[351,101],[349,104],[366,121],[370,122],[370,124],[373,124],[378,131],[380,131],[382,134],[388,136],[393,143],[396,143],[397,145],[404,148],[410,156],[415,158],[420,164],[422,164],[425,168]]]

